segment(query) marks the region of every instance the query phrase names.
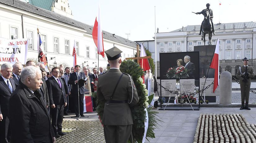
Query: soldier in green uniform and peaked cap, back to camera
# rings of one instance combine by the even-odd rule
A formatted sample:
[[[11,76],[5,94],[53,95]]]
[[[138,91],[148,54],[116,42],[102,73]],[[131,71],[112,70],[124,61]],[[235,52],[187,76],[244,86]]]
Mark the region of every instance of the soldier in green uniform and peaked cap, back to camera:
[[[117,47],[105,51],[110,63],[108,72],[98,78],[97,98],[105,101],[102,124],[106,143],[127,143],[132,133],[130,107],[139,101],[132,77],[119,70],[121,53]]]

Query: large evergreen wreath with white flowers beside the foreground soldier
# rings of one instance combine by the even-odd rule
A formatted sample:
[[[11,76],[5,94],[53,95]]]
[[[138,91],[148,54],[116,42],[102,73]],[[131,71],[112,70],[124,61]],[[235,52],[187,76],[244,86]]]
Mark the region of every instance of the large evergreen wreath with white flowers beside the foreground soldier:
[[[124,73],[128,73],[132,76],[133,82],[136,86],[137,93],[139,96],[139,102],[137,105],[131,108],[132,118],[133,118],[133,125],[132,125],[132,138],[133,142],[141,143],[142,138],[145,131],[145,120],[146,120],[146,111],[144,110],[145,107],[148,106],[148,96],[147,90],[145,89],[146,85],[142,84],[143,79],[141,76],[144,74],[143,70],[141,69],[140,65],[133,62],[132,60],[124,60],[120,66],[120,71]],[[97,106],[97,112],[99,117],[102,119],[103,116],[103,109],[104,109],[104,102],[99,102]],[[157,118],[156,111],[152,111],[151,108],[147,108],[148,112],[148,129],[146,133],[146,139],[148,137],[155,138],[154,129],[157,127],[157,121],[160,121]],[[147,139],[148,140],[148,139]],[[129,142],[130,141],[129,139]]]

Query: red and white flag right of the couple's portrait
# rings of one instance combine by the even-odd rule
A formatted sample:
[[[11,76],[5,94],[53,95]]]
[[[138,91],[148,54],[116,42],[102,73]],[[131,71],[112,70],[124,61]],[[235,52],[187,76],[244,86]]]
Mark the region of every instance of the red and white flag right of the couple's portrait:
[[[216,43],[215,51],[214,51],[214,55],[213,55],[213,60],[210,65],[210,68],[215,69],[213,93],[217,89],[217,86],[219,85],[219,67],[220,67],[220,64],[219,64],[219,39],[217,39],[217,43]]]

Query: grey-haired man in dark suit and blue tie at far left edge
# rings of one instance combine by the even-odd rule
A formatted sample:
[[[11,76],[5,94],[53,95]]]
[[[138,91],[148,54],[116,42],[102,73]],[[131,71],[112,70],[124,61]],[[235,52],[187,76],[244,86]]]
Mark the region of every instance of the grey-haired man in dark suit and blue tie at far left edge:
[[[15,81],[11,78],[12,67],[2,64],[0,76],[0,143],[8,143],[9,129],[8,104],[11,93],[16,89]],[[15,105],[14,105],[15,106]],[[9,135],[8,135],[9,136]]]

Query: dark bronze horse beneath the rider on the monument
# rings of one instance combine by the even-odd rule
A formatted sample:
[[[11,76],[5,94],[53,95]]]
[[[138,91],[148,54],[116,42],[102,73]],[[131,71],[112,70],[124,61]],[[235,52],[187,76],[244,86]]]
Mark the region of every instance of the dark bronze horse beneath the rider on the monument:
[[[212,33],[213,33],[213,28],[212,28],[212,24],[211,24],[211,21],[210,21],[210,14],[209,14],[209,11],[208,9],[205,9],[204,10],[204,23],[203,23],[203,28],[202,28],[202,39],[201,40],[204,40],[204,45],[205,45],[205,35],[208,34],[209,35],[209,45],[212,45]]]

